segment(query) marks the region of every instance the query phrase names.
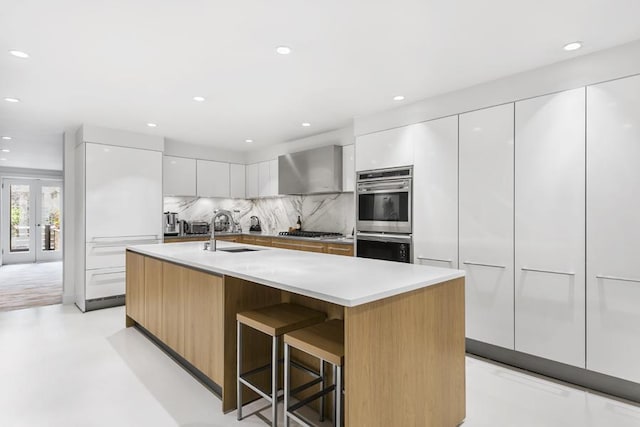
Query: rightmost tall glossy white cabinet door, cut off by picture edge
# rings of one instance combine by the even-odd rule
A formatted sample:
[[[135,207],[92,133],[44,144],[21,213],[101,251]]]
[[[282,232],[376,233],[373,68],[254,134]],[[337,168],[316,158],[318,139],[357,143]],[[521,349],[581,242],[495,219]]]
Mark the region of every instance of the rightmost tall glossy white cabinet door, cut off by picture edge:
[[[640,383],[640,76],[587,88],[587,369]]]

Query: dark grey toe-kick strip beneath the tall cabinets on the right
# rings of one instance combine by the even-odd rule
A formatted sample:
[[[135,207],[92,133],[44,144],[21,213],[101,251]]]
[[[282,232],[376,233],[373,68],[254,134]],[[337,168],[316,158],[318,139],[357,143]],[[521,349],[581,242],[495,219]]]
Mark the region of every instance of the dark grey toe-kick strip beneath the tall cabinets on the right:
[[[640,403],[640,384],[542,357],[466,339],[467,353]]]

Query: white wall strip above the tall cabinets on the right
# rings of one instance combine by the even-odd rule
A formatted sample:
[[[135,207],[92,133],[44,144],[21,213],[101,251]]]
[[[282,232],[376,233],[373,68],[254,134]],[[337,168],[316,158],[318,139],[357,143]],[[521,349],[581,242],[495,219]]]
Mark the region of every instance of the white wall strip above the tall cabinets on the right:
[[[525,53],[523,53],[525,54]],[[354,134],[419,123],[640,73],[640,40],[354,119]]]

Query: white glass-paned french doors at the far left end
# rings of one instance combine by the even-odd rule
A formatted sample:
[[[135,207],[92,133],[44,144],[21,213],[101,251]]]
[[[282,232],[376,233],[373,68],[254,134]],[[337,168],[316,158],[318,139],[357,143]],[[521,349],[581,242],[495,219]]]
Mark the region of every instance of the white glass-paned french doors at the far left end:
[[[62,181],[2,182],[2,263],[62,259]]]

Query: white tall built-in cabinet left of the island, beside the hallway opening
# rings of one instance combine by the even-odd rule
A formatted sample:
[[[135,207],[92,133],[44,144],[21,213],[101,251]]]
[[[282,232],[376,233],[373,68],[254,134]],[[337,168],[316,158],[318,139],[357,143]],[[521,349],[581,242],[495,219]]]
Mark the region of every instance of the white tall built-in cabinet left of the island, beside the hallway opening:
[[[164,141],[92,127],[78,136],[74,268],[76,304],[86,311],[124,303],[127,246],[162,241]],[[103,143],[123,139],[145,148]]]

